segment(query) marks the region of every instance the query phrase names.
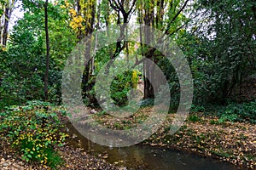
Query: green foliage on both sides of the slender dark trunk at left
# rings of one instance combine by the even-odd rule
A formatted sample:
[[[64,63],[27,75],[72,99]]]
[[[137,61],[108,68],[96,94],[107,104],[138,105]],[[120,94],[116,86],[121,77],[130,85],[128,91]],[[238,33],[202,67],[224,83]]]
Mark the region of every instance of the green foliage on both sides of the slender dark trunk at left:
[[[44,99],[44,10],[38,8],[44,2],[36,3],[39,6],[23,2],[23,7],[29,11],[14,26],[6,51],[1,49],[0,106]],[[63,10],[60,5],[49,3],[49,101],[55,103],[61,102],[61,71],[76,44],[76,36],[66,21],[68,14]]]

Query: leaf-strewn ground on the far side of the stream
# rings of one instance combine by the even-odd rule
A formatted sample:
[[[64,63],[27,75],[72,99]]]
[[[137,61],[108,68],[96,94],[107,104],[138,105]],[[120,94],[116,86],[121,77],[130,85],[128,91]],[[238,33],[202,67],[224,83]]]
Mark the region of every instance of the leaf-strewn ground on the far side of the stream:
[[[113,118],[99,111],[91,115],[96,122],[113,129],[129,129],[143,123],[151,109],[145,107],[130,117]],[[143,144],[186,150],[201,156],[228,161],[242,169],[256,169],[256,125],[245,122],[218,122],[217,116],[190,115],[176,133],[170,127],[176,114],[167,114],[162,126]]]

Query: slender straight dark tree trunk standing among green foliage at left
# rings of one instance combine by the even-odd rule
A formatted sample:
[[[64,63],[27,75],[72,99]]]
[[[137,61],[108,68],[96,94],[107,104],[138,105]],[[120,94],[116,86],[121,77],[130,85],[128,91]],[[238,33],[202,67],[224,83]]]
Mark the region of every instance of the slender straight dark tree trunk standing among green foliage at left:
[[[44,26],[46,42],[46,68],[44,75],[44,100],[48,100],[48,77],[49,77],[49,31],[48,31],[48,0],[44,3]]]

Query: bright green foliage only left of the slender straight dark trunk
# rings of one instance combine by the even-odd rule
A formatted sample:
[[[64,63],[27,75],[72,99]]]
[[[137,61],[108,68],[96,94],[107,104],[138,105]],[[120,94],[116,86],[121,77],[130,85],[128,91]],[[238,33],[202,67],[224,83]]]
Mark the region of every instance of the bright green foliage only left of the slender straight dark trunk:
[[[3,94],[0,105],[3,106],[21,104],[26,99],[40,99],[43,96],[43,39],[39,25],[35,23],[37,18],[29,14],[24,17],[14,27],[9,47],[3,55],[5,71],[0,87]],[[28,21],[35,26],[33,29],[27,25]]]

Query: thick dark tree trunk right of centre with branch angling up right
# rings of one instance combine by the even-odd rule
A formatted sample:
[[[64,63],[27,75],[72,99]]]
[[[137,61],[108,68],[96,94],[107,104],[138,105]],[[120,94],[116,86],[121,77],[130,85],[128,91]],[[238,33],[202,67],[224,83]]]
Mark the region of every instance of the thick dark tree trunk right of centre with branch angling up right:
[[[154,1],[153,0],[150,0],[149,1],[150,4],[154,4]],[[177,20],[178,18],[178,15],[181,14],[181,12],[183,11],[183,9],[187,6],[187,4],[189,3],[189,0],[186,0],[183,5],[181,6],[181,8],[179,8],[177,10],[177,13],[174,15],[174,17],[172,19],[170,19],[169,22],[167,22],[167,26],[166,26],[166,29],[165,29],[165,33],[167,35],[170,34],[170,29],[172,27],[172,23]],[[151,5],[148,5],[146,4],[146,2],[142,3],[142,8],[144,10],[144,14],[141,14],[143,16],[143,21],[144,21],[144,24],[146,26],[151,26],[151,27],[161,27],[163,26],[163,17],[164,17],[164,5],[165,4],[165,1],[163,0],[157,0],[156,2],[156,5],[157,5],[157,8],[156,8],[156,12],[157,14],[154,14],[154,11],[155,11],[155,7],[154,5],[151,6]],[[171,3],[172,4],[172,3]],[[171,8],[177,8],[177,6],[175,7],[171,7]],[[143,24],[143,23],[141,23]],[[179,27],[176,31],[178,31],[181,27]],[[174,31],[175,32],[175,31]],[[174,33],[172,32],[172,34]],[[146,44],[150,44],[150,42],[152,41],[156,41],[153,37],[154,35],[152,34],[152,31],[150,28],[146,28],[143,32],[143,37],[144,37],[144,41]],[[160,38],[163,38],[163,37],[160,37]],[[164,40],[162,40],[164,41]],[[160,42],[160,39],[157,41],[157,42]],[[157,61],[154,57],[154,51],[155,49],[154,48],[151,48],[149,47],[148,48],[148,51],[145,52],[143,54],[143,56],[147,59],[150,59],[155,65],[157,64]],[[148,98],[154,98],[154,93],[156,92],[157,88],[159,88],[160,86],[160,80],[159,80],[159,77],[156,77],[155,76],[155,65],[151,65],[149,64],[147,61],[145,61],[143,63],[144,65],[144,99],[148,99]],[[148,77],[148,78],[146,78]],[[151,79],[152,81],[156,82],[154,83],[157,87],[154,87],[156,89],[153,88],[152,86],[152,83],[149,82],[149,80]]]

